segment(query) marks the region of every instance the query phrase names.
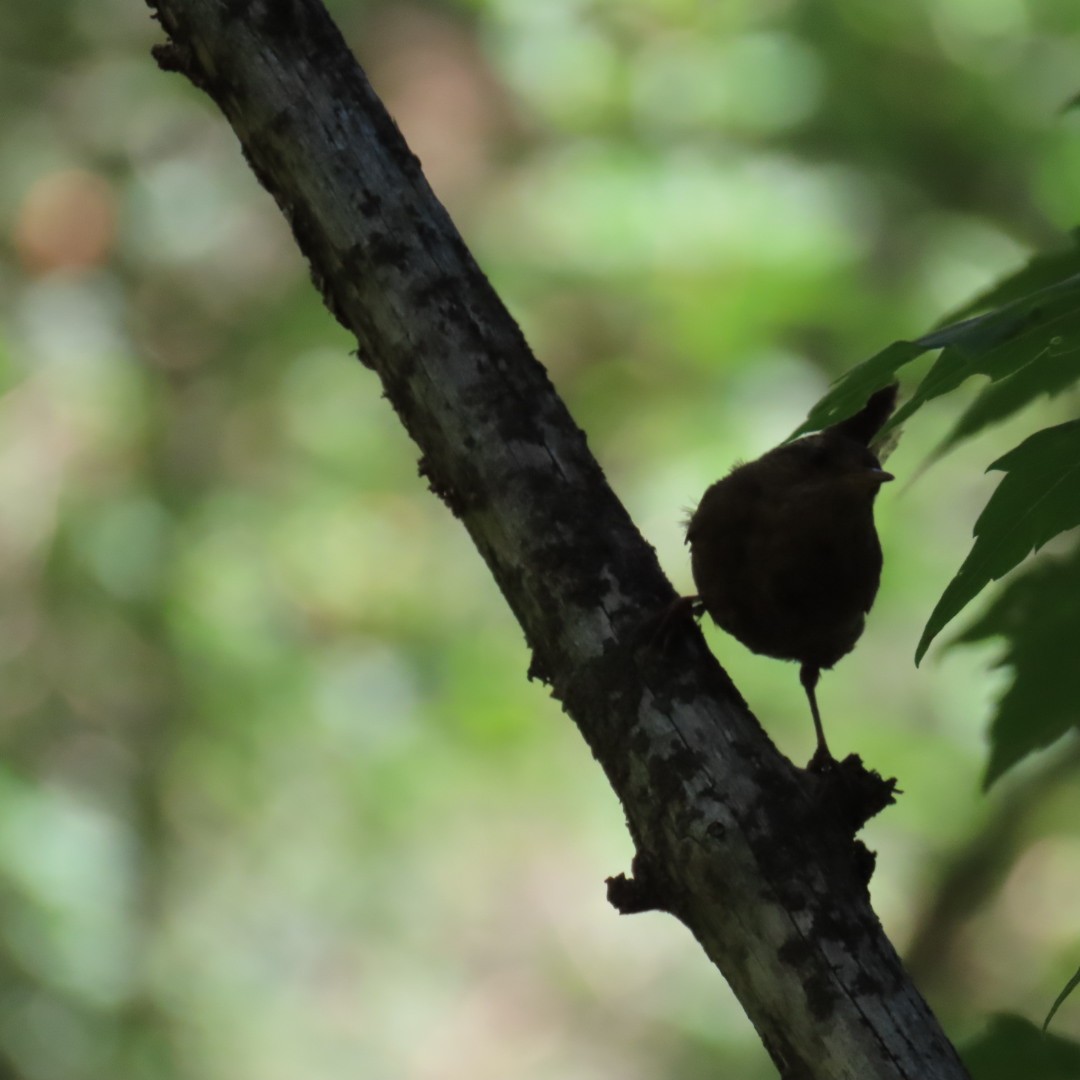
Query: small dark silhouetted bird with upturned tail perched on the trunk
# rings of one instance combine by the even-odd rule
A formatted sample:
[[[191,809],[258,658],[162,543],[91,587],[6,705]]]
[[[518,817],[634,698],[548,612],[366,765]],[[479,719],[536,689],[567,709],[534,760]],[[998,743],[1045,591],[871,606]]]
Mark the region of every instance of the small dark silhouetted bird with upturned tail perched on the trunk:
[[[895,383],[860,413],[737,465],[705,491],[686,542],[697,613],[752,652],[797,660],[818,748],[833,761],[814,689],[859,640],[881,577],[878,488],[893,480],[869,449],[896,404]]]

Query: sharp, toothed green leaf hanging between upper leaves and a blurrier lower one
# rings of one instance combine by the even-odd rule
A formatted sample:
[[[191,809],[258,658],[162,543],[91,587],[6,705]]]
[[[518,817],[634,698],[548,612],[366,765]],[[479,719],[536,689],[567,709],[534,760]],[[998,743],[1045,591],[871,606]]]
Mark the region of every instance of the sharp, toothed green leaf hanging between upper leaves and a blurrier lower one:
[[[990,467],[1005,473],[975,523],[975,543],[922,632],[918,663],[941,629],[990,581],[1080,525],[1080,420],[1036,432]]]

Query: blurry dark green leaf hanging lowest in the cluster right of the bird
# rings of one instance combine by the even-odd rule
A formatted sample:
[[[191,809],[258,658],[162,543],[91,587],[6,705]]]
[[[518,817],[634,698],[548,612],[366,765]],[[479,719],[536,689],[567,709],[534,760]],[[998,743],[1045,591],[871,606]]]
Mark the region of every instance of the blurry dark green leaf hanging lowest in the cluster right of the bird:
[[[990,608],[950,645],[1005,639],[997,666],[1013,680],[990,724],[984,786],[1028,754],[1071,731],[1080,719],[1080,549],[1014,578]]]

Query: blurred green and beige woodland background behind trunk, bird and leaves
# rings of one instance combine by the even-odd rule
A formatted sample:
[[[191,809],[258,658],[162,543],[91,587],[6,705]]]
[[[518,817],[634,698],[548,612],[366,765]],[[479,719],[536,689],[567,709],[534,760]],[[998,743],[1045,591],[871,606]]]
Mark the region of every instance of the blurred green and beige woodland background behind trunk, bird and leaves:
[[[1075,0],[329,6],[684,591],[711,481],[1080,218]],[[0,1077],[774,1076],[686,931],[607,906],[615,797],[157,40],[0,8]],[[1080,752],[982,794],[1008,673],[913,665],[986,463],[1077,404],[923,469],[960,397],[821,697],[900,778],[874,899],[962,1040],[1080,964]],[[808,757],[794,666],[710,634]]]

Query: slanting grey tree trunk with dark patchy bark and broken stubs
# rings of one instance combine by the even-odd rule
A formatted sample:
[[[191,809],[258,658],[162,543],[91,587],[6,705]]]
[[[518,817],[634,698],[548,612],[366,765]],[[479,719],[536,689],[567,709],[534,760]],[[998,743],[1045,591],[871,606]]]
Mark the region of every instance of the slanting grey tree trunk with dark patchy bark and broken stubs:
[[[675,596],[319,0],[150,0],[217,103],[626,812],[620,910],[680,919],[784,1078],[967,1074],[869,906],[890,788],[769,742]],[[632,962],[632,961],[629,961]]]

